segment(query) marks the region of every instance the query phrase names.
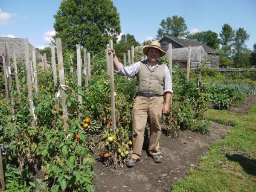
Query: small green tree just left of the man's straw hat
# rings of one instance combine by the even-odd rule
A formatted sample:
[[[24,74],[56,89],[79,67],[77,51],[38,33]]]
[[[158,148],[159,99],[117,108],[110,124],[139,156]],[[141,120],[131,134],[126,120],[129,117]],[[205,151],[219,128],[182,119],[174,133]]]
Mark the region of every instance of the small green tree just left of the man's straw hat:
[[[124,53],[127,55],[128,50],[131,50],[131,46],[137,47],[140,46],[140,43],[135,40],[134,35],[127,34],[121,36],[121,40],[114,45],[114,49],[118,56],[122,57]]]

